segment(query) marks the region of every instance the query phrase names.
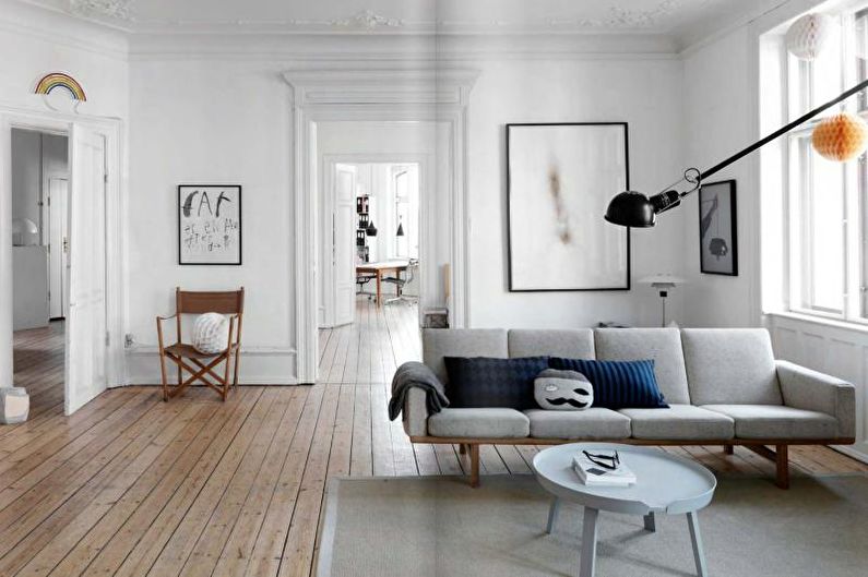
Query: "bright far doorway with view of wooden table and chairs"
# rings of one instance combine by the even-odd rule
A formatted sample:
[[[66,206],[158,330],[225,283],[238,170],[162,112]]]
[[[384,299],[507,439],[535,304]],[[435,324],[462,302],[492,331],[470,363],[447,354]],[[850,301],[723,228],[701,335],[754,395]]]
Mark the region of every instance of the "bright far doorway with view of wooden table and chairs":
[[[326,170],[320,327],[396,306],[416,324],[420,164],[330,161]]]

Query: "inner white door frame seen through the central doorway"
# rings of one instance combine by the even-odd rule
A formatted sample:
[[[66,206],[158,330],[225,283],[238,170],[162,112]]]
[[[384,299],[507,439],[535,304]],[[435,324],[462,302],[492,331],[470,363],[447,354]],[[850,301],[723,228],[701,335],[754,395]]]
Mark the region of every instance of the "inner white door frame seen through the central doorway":
[[[323,213],[328,208],[328,199],[330,197],[330,189],[334,187],[334,166],[335,165],[418,165],[419,166],[419,302],[424,302],[424,297],[430,294],[432,286],[430,283],[437,279],[437,265],[432,257],[436,254],[435,225],[436,225],[436,209],[437,203],[433,188],[435,179],[432,178],[433,159],[431,155],[421,153],[404,153],[404,154],[389,154],[389,153],[337,153],[322,155],[322,163],[320,165],[320,173],[322,177],[321,193],[325,202],[323,203]],[[326,243],[329,239],[328,231],[321,230],[319,232],[320,243]],[[319,251],[318,251],[319,252]],[[323,266],[322,280],[328,283],[331,274]],[[332,293],[332,298],[335,294]],[[322,303],[317,301],[318,308]],[[333,303],[333,308],[336,303]],[[328,309],[326,309],[328,312]],[[333,313],[334,311],[332,311]],[[421,318],[421,308],[419,308],[419,317]],[[332,314],[331,318],[334,318]],[[323,315],[323,320],[328,325],[330,316]]]

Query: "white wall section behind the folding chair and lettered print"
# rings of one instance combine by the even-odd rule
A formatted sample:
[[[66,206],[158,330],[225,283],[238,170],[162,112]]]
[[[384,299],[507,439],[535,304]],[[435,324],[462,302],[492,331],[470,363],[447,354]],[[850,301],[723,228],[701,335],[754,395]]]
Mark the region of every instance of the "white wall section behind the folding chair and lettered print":
[[[293,347],[290,106],[280,65],[134,61],[130,80],[132,382],[155,382],[154,316],[174,290],[246,289],[245,382],[287,383]],[[242,187],[242,265],[178,264],[177,185]],[[312,274],[312,272],[311,272]]]

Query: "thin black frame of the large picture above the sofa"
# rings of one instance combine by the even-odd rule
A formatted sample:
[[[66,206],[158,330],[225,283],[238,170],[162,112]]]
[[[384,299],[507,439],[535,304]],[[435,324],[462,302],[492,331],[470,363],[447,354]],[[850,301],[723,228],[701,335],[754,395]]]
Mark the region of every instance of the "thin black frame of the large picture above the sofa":
[[[626,269],[625,269],[625,277],[623,284],[618,286],[598,286],[598,287],[576,287],[576,288],[564,288],[564,287],[557,287],[557,288],[545,288],[545,287],[536,287],[536,288],[521,288],[516,286],[515,283],[515,263],[513,261],[513,231],[515,229],[515,224],[513,223],[513,214],[512,214],[512,196],[513,196],[513,185],[515,180],[515,175],[513,173],[513,166],[512,166],[512,154],[511,154],[511,135],[512,132],[515,130],[521,130],[524,128],[548,128],[548,127],[619,127],[623,130],[623,166],[625,166],[625,190],[630,190],[630,137],[629,137],[629,124],[628,122],[620,122],[620,121],[610,121],[610,122],[511,122],[506,124],[506,152],[507,152],[507,280],[508,280],[508,289],[509,292],[588,292],[588,291],[623,291],[631,289],[631,276],[632,276],[632,248],[631,248],[631,230],[629,227],[618,227],[620,230],[619,232],[625,235],[626,238],[626,254],[623,255],[626,260]],[[611,196],[615,196],[618,190],[613,190],[610,195],[607,195],[606,199],[602,199],[603,203],[608,203]],[[604,211],[601,211],[598,215],[594,215],[598,220],[601,227],[611,226],[606,223],[603,218]],[[581,263],[570,263],[574,266],[581,266]]]

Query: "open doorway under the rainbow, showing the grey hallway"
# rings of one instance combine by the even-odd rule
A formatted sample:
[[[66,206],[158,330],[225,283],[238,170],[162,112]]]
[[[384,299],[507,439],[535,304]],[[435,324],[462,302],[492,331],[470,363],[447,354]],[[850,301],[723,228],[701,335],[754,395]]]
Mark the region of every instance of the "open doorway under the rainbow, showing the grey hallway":
[[[69,313],[69,136],[12,129],[13,383],[61,406]]]

